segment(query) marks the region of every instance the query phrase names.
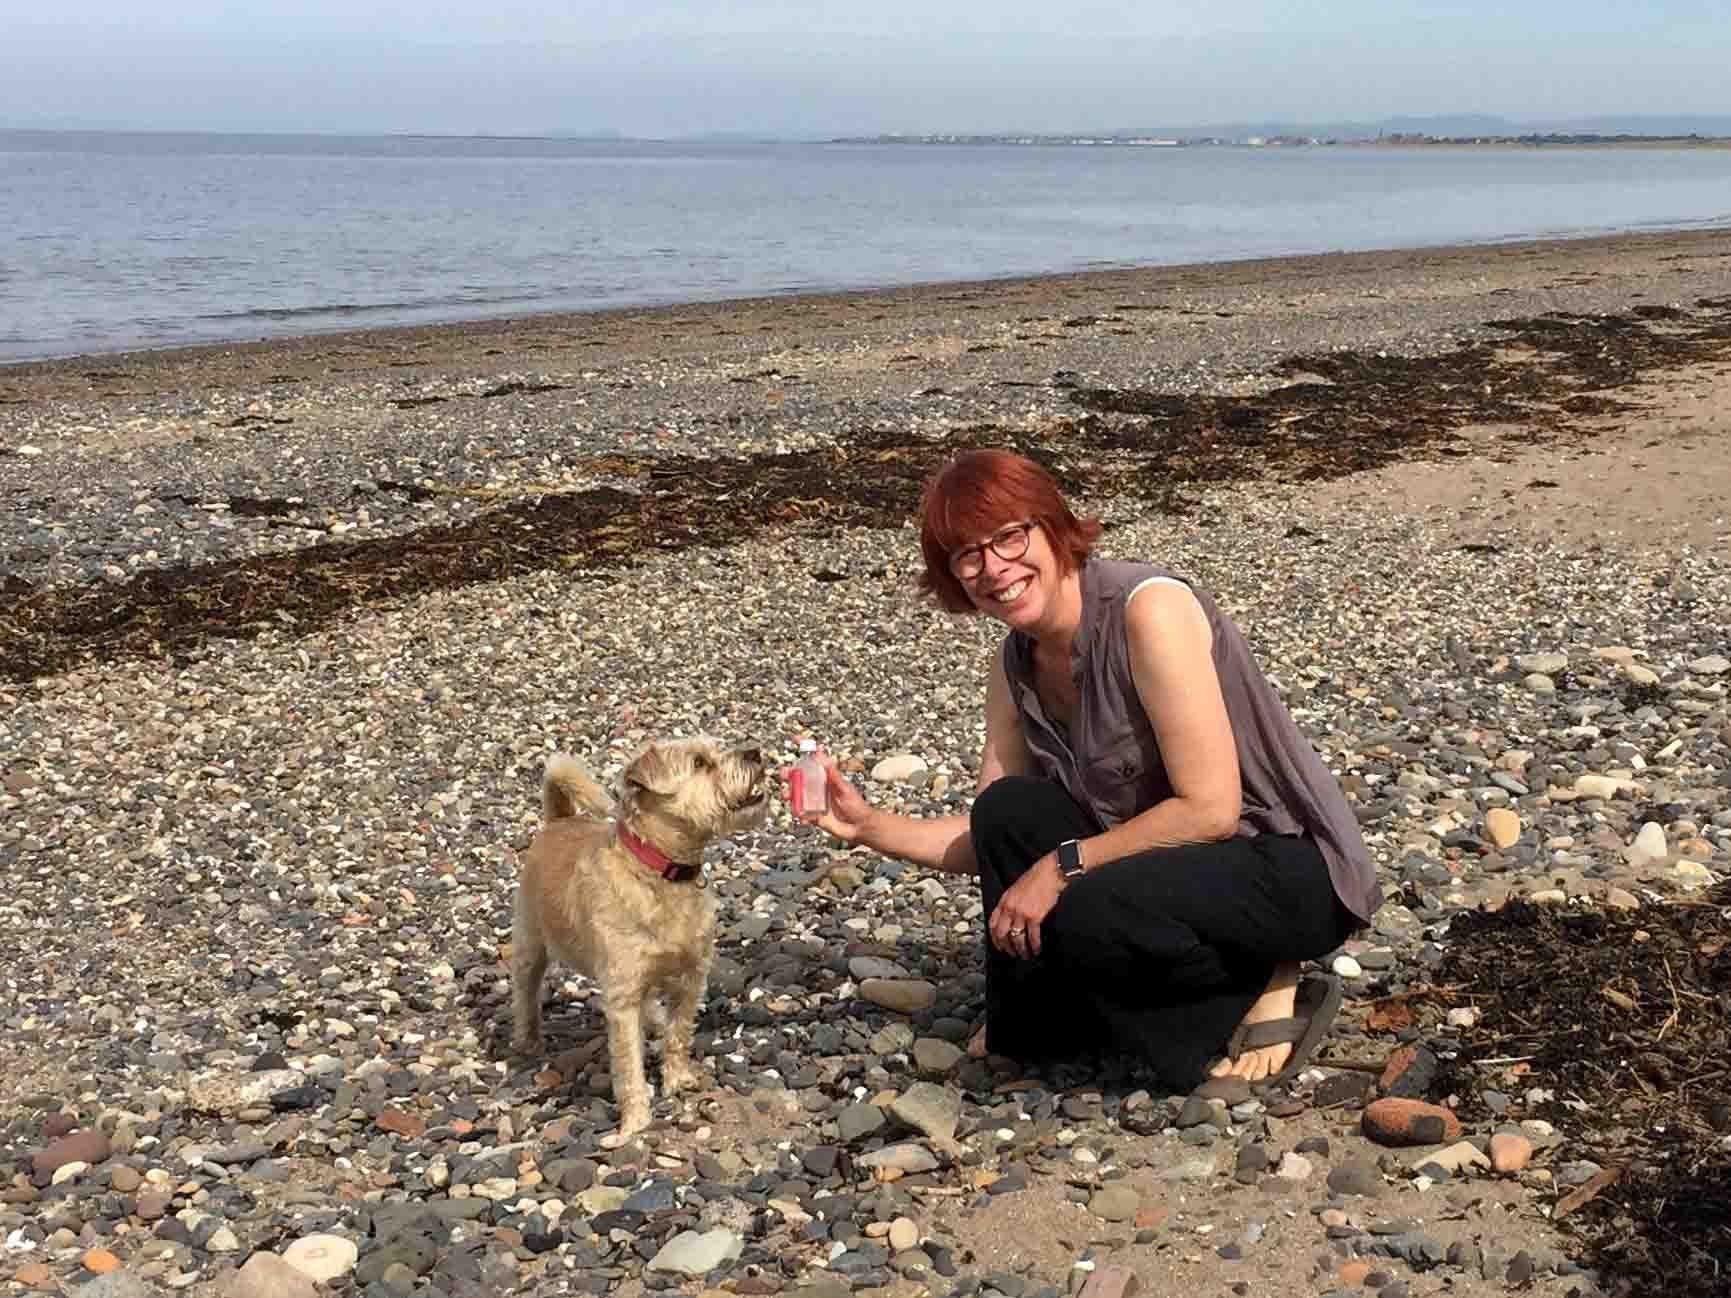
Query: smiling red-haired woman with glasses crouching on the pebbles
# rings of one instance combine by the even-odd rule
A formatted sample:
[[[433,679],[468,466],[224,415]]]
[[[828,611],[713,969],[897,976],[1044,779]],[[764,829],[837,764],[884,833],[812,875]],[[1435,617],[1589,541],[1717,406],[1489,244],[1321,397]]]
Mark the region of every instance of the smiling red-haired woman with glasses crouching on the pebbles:
[[[921,511],[921,587],[1007,627],[971,815],[871,806],[829,763],[845,843],[980,876],[976,1054],[1116,1047],[1168,1085],[1277,1083],[1340,1004],[1319,957],[1381,903],[1352,808],[1213,601],[1089,557],[1035,462],[968,452]]]

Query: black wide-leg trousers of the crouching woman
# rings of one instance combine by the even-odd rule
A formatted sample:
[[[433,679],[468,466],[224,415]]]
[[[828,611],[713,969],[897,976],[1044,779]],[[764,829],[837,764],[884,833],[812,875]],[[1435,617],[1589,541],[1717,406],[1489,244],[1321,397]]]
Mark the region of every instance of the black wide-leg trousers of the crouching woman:
[[[987,921],[999,898],[1092,819],[1061,786],[1006,775],[969,822]],[[1359,921],[1300,836],[1156,848],[1071,881],[1018,961],[987,938],[987,1047],[1014,1059],[1125,1051],[1155,1080],[1207,1076],[1276,964],[1335,950]]]

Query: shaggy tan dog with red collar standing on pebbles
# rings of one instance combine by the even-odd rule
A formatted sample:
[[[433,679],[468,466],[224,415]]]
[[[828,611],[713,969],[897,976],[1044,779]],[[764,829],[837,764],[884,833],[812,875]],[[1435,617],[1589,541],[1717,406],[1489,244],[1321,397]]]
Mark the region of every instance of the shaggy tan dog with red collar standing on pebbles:
[[[540,1057],[550,957],[601,983],[618,1139],[649,1125],[644,1019],[665,1023],[661,1087],[698,1085],[691,1035],[715,954],[703,848],[763,824],[769,786],[755,748],[651,742],[615,800],[564,753],[542,777],[542,827],[523,857],[512,922],[512,1047]]]

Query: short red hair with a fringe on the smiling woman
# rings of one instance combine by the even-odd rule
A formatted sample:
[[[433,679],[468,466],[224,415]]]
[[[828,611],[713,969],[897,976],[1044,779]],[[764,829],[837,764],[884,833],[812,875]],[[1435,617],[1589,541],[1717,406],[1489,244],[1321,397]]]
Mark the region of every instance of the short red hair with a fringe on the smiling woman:
[[[1046,531],[1061,573],[1080,568],[1101,533],[1099,519],[1071,514],[1052,474],[1026,455],[962,452],[926,483],[919,505],[926,571],[919,575],[919,588],[950,613],[973,613],[975,602],[950,571],[950,552],[1026,521]]]

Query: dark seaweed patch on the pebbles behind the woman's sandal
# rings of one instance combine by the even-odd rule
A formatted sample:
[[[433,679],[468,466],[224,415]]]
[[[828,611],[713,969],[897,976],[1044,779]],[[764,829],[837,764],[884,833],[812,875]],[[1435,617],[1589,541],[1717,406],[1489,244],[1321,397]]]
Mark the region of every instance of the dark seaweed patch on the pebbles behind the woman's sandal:
[[[1438,981],[1480,1018],[1463,1115],[1501,1064],[1553,1092],[1572,1156],[1617,1179],[1561,1225],[1632,1293],[1731,1293],[1731,884],[1705,900],[1586,914],[1511,902],[1454,921]]]

